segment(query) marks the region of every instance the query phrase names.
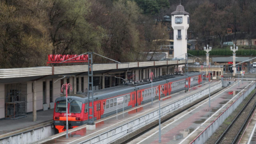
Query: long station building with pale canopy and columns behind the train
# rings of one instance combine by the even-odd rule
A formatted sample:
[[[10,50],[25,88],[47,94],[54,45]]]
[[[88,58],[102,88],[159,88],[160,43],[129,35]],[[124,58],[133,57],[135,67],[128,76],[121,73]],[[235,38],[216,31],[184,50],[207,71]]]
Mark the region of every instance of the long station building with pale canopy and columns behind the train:
[[[194,62],[188,60],[188,63]],[[93,64],[93,90],[118,86],[122,79],[148,79],[150,72],[154,77],[174,74],[175,68],[185,63],[185,60],[168,60]],[[54,108],[54,100],[65,95],[65,90],[61,92],[64,83],[72,85],[68,93],[86,92],[88,65],[0,69],[0,120],[22,118],[33,111]]]

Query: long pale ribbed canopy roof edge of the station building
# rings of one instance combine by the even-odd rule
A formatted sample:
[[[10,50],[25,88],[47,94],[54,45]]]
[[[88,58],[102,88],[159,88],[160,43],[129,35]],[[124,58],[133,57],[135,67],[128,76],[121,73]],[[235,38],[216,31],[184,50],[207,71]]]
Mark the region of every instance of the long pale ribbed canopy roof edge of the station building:
[[[165,55],[165,54],[164,54]],[[160,56],[161,57],[161,56]],[[108,72],[120,72],[127,68],[161,67],[161,65],[184,64],[185,60],[165,60],[158,61],[136,61],[131,63],[104,63],[93,64],[93,74]],[[160,59],[161,60],[161,59]],[[193,60],[189,60],[193,63]],[[68,65],[68,66],[48,66],[48,67],[28,67],[28,68],[0,68],[0,83],[17,83],[26,81],[37,81],[38,79],[52,79],[59,76],[87,76],[88,65]],[[60,77],[59,77],[60,78]]]

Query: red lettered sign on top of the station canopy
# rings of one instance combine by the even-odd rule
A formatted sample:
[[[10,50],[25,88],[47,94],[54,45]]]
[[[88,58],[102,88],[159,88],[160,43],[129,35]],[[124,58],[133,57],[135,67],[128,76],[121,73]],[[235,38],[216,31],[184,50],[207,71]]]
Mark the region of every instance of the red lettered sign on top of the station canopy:
[[[83,63],[87,61],[88,54],[82,54],[81,56],[78,54],[48,54],[47,65],[49,63]]]

